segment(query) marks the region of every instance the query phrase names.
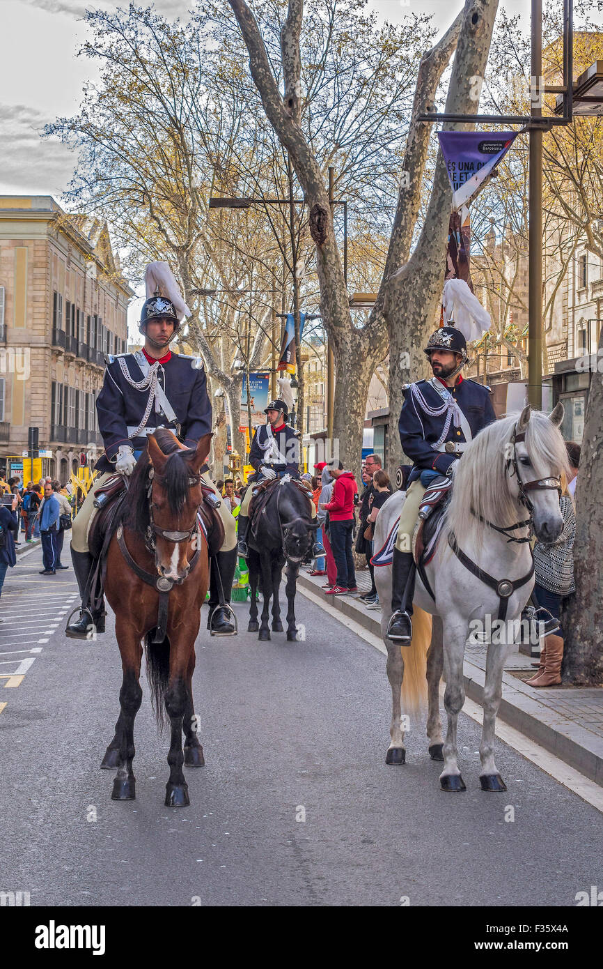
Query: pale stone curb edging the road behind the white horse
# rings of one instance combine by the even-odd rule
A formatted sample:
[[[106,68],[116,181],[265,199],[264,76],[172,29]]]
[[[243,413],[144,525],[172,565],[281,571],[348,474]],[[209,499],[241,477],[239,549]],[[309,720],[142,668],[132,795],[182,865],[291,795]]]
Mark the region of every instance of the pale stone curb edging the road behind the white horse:
[[[318,582],[308,576],[300,574],[297,581],[310,591],[321,591]],[[329,596],[328,599],[329,606],[380,639],[378,612],[369,612],[359,606],[356,600],[345,596]],[[465,659],[465,692],[470,700],[480,705],[484,698],[485,675],[481,667]],[[596,688],[585,692],[596,695],[597,698],[602,695],[601,690]],[[589,780],[603,787],[603,737],[591,733],[569,717],[563,716],[557,709],[543,703],[545,699],[543,695],[540,700],[539,694],[516,676],[503,672],[498,717],[509,727],[540,744],[564,764],[574,767]]]

